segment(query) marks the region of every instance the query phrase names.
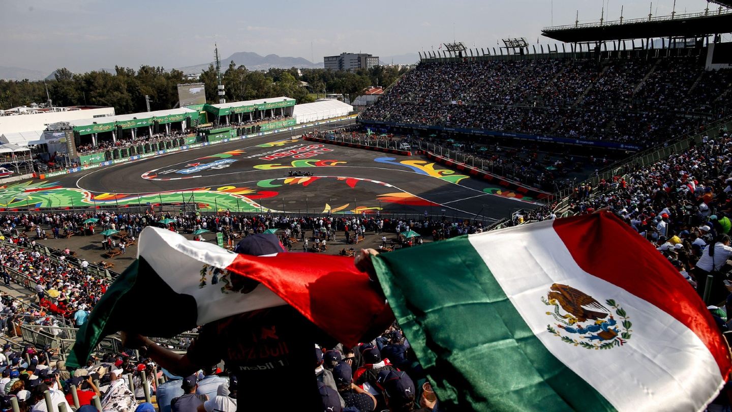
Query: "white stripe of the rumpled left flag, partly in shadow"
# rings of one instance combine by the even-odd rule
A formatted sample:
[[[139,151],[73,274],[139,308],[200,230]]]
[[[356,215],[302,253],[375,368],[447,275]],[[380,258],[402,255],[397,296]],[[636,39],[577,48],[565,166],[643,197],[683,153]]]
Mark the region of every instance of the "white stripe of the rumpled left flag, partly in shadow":
[[[144,257],[163,282],[176,293],[192,295],[198,307],[198,325],[243,312],[285,305],[264,285],[250,293],[223,293],[222,283],[199,287],[203,264],[226,268],[236,254],[206,242],[187,240],[170,230],[147,227],[140,235],[138,256]],[[138,276],[145,276],[139,273]],[[238,275],[236,275],[238,276]]]

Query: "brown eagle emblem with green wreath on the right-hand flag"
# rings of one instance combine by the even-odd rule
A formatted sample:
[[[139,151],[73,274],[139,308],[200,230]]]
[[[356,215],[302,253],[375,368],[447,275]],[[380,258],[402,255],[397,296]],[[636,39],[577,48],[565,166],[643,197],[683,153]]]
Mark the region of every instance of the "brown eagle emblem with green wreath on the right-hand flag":
[[[552,284],[542,302],[553,309],[546,314],[556,321],[550,334],[586,349],[612,349],[630,339],[632,322],[616,301],[597,299],[566,284]]]

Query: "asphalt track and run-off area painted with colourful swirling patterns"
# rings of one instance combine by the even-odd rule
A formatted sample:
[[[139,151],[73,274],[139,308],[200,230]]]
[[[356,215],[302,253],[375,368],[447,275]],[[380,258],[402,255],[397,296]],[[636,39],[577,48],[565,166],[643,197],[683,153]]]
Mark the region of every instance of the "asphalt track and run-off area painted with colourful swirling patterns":
[[[296,138],[236,142],[0,186],[0,210],[197,205],[210,212],[506,216],[534,199],[418,156]],[[244,143],[249,145],[245,146]],[[244,146],[244,147],[242,147]],[[291,175],[291,172],[295,172]]]

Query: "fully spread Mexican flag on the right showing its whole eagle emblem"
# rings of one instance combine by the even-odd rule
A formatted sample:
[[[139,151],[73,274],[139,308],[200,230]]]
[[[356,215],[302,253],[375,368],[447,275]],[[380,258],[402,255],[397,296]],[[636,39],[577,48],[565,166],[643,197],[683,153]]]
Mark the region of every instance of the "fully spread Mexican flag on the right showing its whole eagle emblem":
[[[438,398],[460,411],[701,411],[731,370],[692,287],[610,213],[375,261]]]

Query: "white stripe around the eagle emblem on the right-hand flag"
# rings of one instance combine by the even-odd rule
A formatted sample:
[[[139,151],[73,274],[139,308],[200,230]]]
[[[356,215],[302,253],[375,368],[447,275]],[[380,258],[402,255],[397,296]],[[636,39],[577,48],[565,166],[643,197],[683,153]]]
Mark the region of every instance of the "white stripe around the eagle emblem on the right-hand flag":
[[[468,239],[550,353],[618,411],[701,411],[723,386],[717,362],[693,331],[647,301],[583,271],[552,221]],[[546,314],[552,306],[541,298],[553,283],[581,290],[603,305],[615,300],[632,321],[631,338],[620,347],[594,350],[551,334],[547,325],[557,328],[557,322]]]

